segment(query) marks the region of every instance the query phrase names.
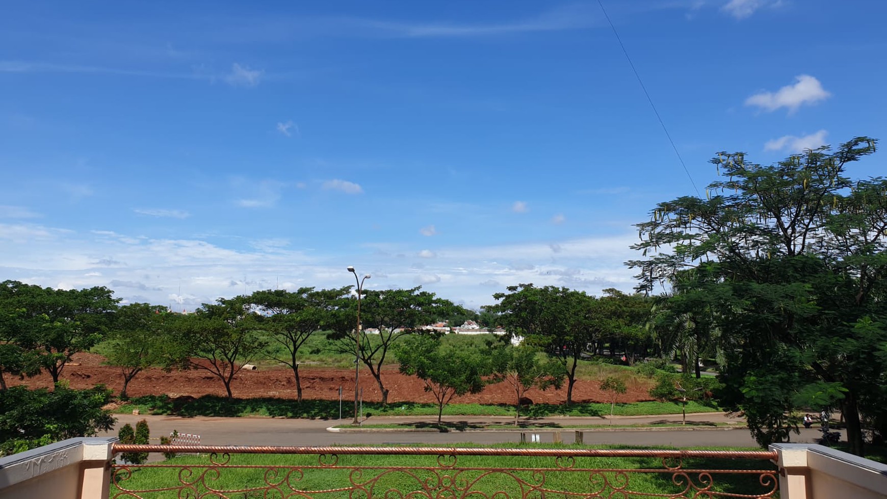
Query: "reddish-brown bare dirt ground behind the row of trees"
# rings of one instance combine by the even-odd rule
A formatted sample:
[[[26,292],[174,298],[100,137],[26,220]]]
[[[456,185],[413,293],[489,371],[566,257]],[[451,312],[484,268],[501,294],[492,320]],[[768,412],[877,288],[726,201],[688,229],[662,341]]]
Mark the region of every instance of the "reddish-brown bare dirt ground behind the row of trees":
[[[61,378],[67,379],[72,388],[90,388],[99,383],[119,393],[123,386],[123,376],[119,368],[101,365],[104,357],[95,354],[76,354],[71,363],[62,370]],[[338,400],[339,387],[344,400],[354,397],[354,370],[325,367],[301,366],[302,396],[306,399]],[[435,402],[434,396],[425,392],[422,381],[412,376],[404,376],[395,367],[382,370],[382,382],[389,389],[389,403],[396,402]],[[8,378],[10,385],[31,387],[51,386],[52,378],[42,374],[35,378],[20,381]],[[369,370],[361,366],[360,386],[367,402],[381,401],[381,391]],[[651,382],[629,379],[628,391],[618,395],[616,402],[641,402],[652,400],[648,394]],[[174,370],[163,372],[159,369],[145,370],[136,376],[128,390],[130,397],[140,395],[168,394],[171,397],[213,394],[224,395],[224,385],[219,378],[206,370]],[[232,381],[232,392],[238,398],[276,397],[295,399],[295,379],[293,371],[287,368],[241,370]],[[525,395],[533,403],[562,403],[567,400],[566,384],[561,389],[546,391],[530,390]],[[578,380],[573,387],[573,402],[610,402],[611,395],[600,390],[600,383],[593,380]],[[457,397],[455,403],[513,404],[514,389],[506,382],[489,385],[480,394]]]

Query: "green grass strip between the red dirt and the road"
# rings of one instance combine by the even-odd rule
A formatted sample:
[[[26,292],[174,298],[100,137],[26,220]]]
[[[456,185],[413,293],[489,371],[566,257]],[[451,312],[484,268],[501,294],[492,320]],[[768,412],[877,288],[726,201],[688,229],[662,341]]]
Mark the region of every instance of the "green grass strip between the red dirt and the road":
[[[342,417],[354,417],[349,403],[342,404]],[[200,398],[167,395],[145,395],[134,397],[123,404],[118,413],[131,413],[138,409],[142,414],[175,415],[184,417],[305,417],[311,419],[337,419],[338,401],[255,398],[232,399],[216,395]],[[582,403],[566,405],[535,404],[521,409],[522,417],[585,416],[600,417],[609,414],[608,403]],[[717,412],[714,404],[687,402],[687,413]],[[677,414],[680,404],[675,402],[634,402],[616,404],[616,416],[659,416]],[[437,406],[433,403],[399,402],[382,407],[378,402],[364,402],[365,416],[437,416]],[[444,416],[509,416],[514,417],[514,406],[484,404],[450,404],[443,408]]]

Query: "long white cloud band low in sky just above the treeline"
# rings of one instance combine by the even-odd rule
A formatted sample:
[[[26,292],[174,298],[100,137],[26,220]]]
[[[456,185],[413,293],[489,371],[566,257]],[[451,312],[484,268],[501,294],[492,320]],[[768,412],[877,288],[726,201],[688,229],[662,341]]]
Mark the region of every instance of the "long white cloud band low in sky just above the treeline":
[[[287,246],[287,239],[273,237],[222,238],[210,243],[132,237],[109,230],[74,232],[32,223],[0,224],[0,254],[4,255],[0,272],[4,278],[44,286],[82,288],[115,282],[110,287],[118,298],[178,304],[178,311],[260,289],[329,289],[349,284],[349,277],[353,283],[342,261],[353,261],[354,248],[300,251],[293,249],[295,239]],[[452,246],[435,252],[373,243],[365,246],[382,245],[386,251],[361,253],[365,256],[355,263],[362,273],[373,275],[367,281],[373,289],[420,284],[438,296],[477,308],[495,301],[492,292],[520,283],[566,285],[593,294],[608,287],[631,292],[634,271],[623,262],[640,258],[629,249],[636,241],[637,232],[626,227],[615,236],[496,246],[457,238]],[[411,260],[420,261],[421,268],[411,269]]]

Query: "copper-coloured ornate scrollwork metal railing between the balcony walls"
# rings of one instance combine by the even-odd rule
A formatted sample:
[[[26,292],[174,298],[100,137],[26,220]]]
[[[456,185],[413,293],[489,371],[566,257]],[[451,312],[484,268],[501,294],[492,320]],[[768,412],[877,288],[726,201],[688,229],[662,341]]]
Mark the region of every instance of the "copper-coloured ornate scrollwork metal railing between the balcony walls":
[[[114,499],[677,499],[778,487],[765,450],[114,445],[121,452],[208,456],[113,464]]]

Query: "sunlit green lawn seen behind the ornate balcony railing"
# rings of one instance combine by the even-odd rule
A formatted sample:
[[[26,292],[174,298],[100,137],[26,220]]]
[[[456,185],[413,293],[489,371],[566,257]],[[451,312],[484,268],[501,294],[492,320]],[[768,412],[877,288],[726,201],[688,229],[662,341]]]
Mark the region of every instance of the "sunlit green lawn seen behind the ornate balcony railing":
[[[506,444],[496,447],[514,447],[515,444]],[[475,445],[455,444],[457,447],[476,447]],[[527,445],[526,448],[585,448],[584,446],[559,446],[555,444]],[[594,448],[601,448],[595,446]],[[611,446],[606,448],[624,448]],[[745,449],[743,449],[745,450]],[[444,463],[446,463],[446,459]],[[331,457],[326,456],[324,463],[331,462]],[[672,472],[655,473],[629,473],[620,477],[616,472],[604,471],[601,474],[593,473],[591,480],[589,472],[551,470],[555,468],[556,461],[553,457],[533,456],[459,456],[458,468],[513,468],[510,472],[463,471],[458,469],[441,468],[437,456],[349,456],[338,457],[337,467],[326,469],[302,468],[318,464],[318,456],[299,455],[233,455],[229,464],[238,466],[258,466],[256,468],[229,468],[220,469],[218,474],[208,470],[207,456],[179,456],[165,464],[175,465],[170,468],[135,468],[128,480],[127,473],[118,475],[117,485],[112,484],[110,496],[120,493],[117,487],[129,490],[147,490],[165,487],[182,487],[180,480],[194,482],[191,496],[203,496],[208,493],[208,487],[216,490],[238,489],[243,492],[227,494],[231,497],[263,497],[259,490],[267,487],[268,483],[282,482],[283,495],[292,492],[289,487],[309,491],[305,495],[315,498],[346,499],[349,497],[365,497],[367,499],[385,497],[404,497],[410,492],[418,491],[420,494],[412,496],[450,497],[471,495],[491,497],[496,492],[503,497],[521,497],[523,484],[540,484],[543,476],[537,470],[547,468],[544,480],[547,489],[569,491],[577,494],[588,495],[599,488],[602,497],[624,496],[613,487],[605,487],[600,478],[606,477],[610,484],[617,487],[624,485],[624,477],[627,476],[627,488],[641,494],[665,494],[677,495],[684,488],[682,482],[676,485],[672,481]],[[446,463],[449,464],[449,463]],[[188,466],[188,471],[182,472],[183,466]],[[355,472],[355,467],[380,466],[391,468],[397,466],[415,467],[426,466],[432,470],[372,470],[364,469]],[[687,459],[683,463],[686,469],[765,469],[775,470],[775,466],[764,460],[726,460],[726,459]],[[663,462],[655,457],[648,458],[621,458],[621,457],[578,457],[574,468],[586,468],[595,470],[610,469],[655,469],[663,470]],[[269,471],[271,468],[271,471]],[[301,469],[299,469],[301,468]],[[295,471],[294,471],[295,470]],[[696,486],[700,483],[698,474],[689,473],[689,478]],[[714,483],[712,491],[729,493],[758,495],[764,494],[767,489],[761,487],[758,482],[758,474],[721,474],[713,473]],[[288,480],[287,480],[288,479]],[[678,478],[680,480],[680,477]],[[365,484],[365,488],[357,488],[353,483]],[[288,485],[287,485],[288,484]],[[317,490],[329,490],[337,487],[346,487],[327,493],[317,493]],[[459,490],[457,487],[468,490]],[[525,487],[525,485],[524,485]],[[772,488],[772,487],[771,487]],[[245,490],[246,489],[246,490]],[[249,490],[254,489],[254,490]],[[184,491],[188,488],[184,488]],[[403,495],[393,491],[400,491]],[[137,493],[145,499],[184,496],[179,490],[161,490],[155,493]],[[422,494],[424,492],[425,494]],[[523,492],[526,492],[524,489]],[[427,494],[427,495],[426,495]],[[481,495],[483,494],[483,495]],[[213,494],[209,494],[213,495]],[[546,495],[558,495],[546,493]],[[692,495],[692,493],[691,493]],[[216,495],[213,495],[214,497]],[[272,491],[268,497],[280,497],[279,493]],[[543,496],[540,493],[530,492],[530,497]],[[625,495],[627,496],[627,495]]]

